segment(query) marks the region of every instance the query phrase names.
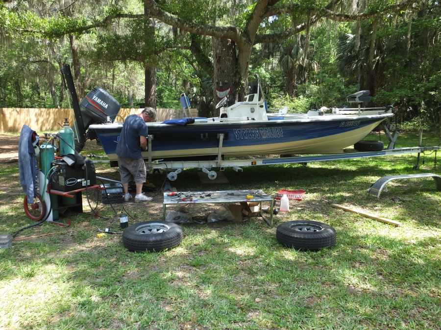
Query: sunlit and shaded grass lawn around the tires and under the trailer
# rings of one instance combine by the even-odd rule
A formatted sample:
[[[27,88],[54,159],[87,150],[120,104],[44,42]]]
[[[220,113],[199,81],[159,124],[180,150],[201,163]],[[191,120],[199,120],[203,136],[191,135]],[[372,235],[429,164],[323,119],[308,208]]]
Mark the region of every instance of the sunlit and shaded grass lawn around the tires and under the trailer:
[[[426,134],[424,144],[440,145],[439,135]],[[409,133],[398,147],[415,145]],[[227,171],[230,184],[215,186],[201,186],[196,171],[184,171],[174,182],[178,190],[305,189],[303,201],[274,219],[334,226],[337,245],[319,252],[285,248],[275,239],[276,226],[252,219],[187,224],[179,247],[131,253],[120,236],[97,238],[97,226],[118,229],[112,210],[99,205],[109,219],[94,218],[84,202],[85,213],[72,215],[71,227],[44,224],[0,250],[0,329],[441,329],[441,192],[433,179],[420,179],[390,183],[381,199],[366,194],[380,176],[441,173],[441,164],[433,168],[434,154],[419,171],[415,160],[402,155],[245,168]],[[106,165],[98,172],[118,177]],[[0,233],[10,233],[30,220],[17,163],[0,164],[0,174]],[[158,185],[163,178],[151,176]],[[152,196],[151,203],[127,208],[139,220],[160,219],[161,195]],[[343,212],[327,201],[403,225]]]

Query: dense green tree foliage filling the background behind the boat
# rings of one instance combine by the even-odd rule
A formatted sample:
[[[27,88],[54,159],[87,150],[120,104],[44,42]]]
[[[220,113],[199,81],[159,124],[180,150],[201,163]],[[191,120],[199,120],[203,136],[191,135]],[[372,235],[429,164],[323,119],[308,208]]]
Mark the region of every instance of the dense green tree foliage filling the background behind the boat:
[[[185,22],[241,29],[257,1],[157,3]],[[306,22],[312,10],[327,3],[278,1],[277,5],[298,7],[290,15],[264,18],[258,33],[278,33],[291,28],[293,22]],[[394,3],[369,0],[367,12],[378,12]],[[365,88],[363,78],[370,72],[375,104],[398,106],[400,121],[418,118],[427,127],[439,127],[441,13],[434,0],[427,4],[416,8],[413,15],[403,11],[362,20],[358,49],[357,22],[328,20],[311,27],[310,39],[302,31],[282,43],[257,44],[249,61],[249,80],[254,79],[254,74],[260,76],[270,107],[288,106],[304,112],[311,104],[341,106],[346,95]],[[160,22],[146,28],[146,22],[139,17],[116,19],[120,14],[144,13],[143,1],[139,0],[83,0],[74,1],[67,9],[60,6],[58,1],[0,3],[0,107],[69,106],[58,71],[63,63],[72,63],[70,34],[75,36],[78,82],[84,92],[101,86],[123,105],[128,105],[132,96],[135,104],[142,103],[144,67],[154,65],[158,107],[179,108],[182,91],[209,105],[213,97],[212,77],[199,61],[207,58],[205,64],[210,66],[210,37],[198,36],[201,52],[192,54],[189,46],[194,39],[188,33]],[[347,3],[342,6],[342,12],[350,11]],[[373,22],[378,23],[378,28],[371,52]],[[368,55],[373,55],[371,63]],[[287,92],[293,96],[287,96]]]

